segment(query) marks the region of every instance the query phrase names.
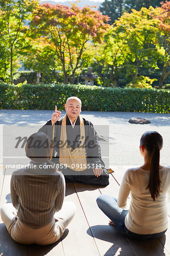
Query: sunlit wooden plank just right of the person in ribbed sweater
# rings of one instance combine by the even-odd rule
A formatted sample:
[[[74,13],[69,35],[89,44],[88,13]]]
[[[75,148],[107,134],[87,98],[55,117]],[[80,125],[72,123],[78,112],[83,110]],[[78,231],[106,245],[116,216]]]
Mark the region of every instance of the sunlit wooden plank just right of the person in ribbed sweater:
[[[88,222],[78,200],[72,183],[66,186],[65,201],[72,201],[76,205],[76,214],[68,226],[68,236],[62,239],[65,256],[98,256],[98,249],[93,236],[86,232],[89,229]]]

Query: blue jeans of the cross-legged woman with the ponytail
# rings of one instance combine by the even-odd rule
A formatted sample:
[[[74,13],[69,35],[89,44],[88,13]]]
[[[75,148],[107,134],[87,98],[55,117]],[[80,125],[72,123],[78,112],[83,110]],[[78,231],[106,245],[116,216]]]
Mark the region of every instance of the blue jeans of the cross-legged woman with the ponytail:
[[[128,213],[128,210],[123,210],[121,207],[118,207],[117,199],[109,195],[101,195],[97,197],[97,205],[107,217],[113,221],[117,229],[126,236],[134,239],[148,239],[148,238],[157,238],[163,236],[166,232],[164,230],[160,233],[155,234],[136,234],[128,230],[125,226],[125,217]]]

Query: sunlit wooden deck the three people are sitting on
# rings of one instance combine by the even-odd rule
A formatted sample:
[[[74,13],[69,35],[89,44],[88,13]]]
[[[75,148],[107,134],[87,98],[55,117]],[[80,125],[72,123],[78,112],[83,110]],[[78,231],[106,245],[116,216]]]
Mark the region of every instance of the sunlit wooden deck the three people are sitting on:
[[[10,203],[10,179],[8,171],[5,175],[0,169],[0,203]],[[170,225],[165,236],[147,241],[131,240],[114,226],[109,226],[109,219],[99,210],[96,198],[101,193],[118,196],[119,184],[125,168],[118,168],[110,174],[110,184],[107,187],[67,184],[65,201],[76,204],[76,214],[65,230],[60,241],[48,246],[20,245],[14,242],[2,220],[0,221],[0,256],[161,256],[170,255]],[[168,219],[170,220],[170,204],[168,203]],[[169,222],[170,223],[170,222]]]

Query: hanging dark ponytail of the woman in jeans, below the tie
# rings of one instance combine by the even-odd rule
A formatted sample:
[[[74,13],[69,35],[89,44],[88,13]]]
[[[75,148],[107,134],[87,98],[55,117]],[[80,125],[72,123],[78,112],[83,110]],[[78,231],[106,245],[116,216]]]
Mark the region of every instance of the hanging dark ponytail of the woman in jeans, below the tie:
[[[155,197],[159,196],[160,192],[160,177],[159,177],[159,158],[160,158],[160,149],[158,144],[155,145],[154,150],[152,151],[151,158],[151,168],[150,168],[150,180],[147,188],[151,193],[152,199],[155,201]]]

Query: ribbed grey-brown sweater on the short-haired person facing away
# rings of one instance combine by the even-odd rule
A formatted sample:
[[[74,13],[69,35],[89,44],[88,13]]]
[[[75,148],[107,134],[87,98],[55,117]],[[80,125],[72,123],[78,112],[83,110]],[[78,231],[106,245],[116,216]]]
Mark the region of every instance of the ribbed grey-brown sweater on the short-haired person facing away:
[[[18,209],[18,218],[34,229],[42,228],[52,220],[54,213],[61,209],[65,196],[63,174],[39,167],[14,171],[11,177],[11,200]]]

